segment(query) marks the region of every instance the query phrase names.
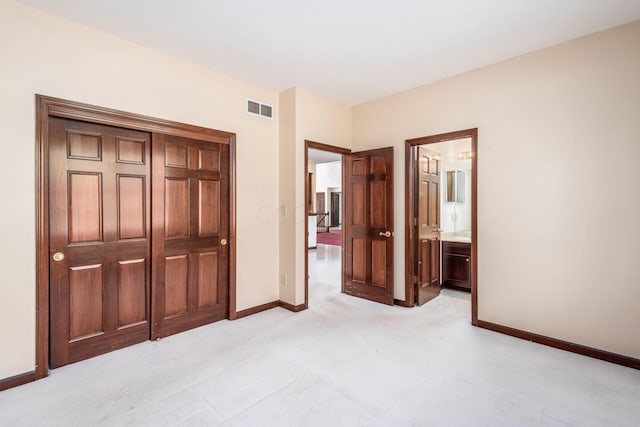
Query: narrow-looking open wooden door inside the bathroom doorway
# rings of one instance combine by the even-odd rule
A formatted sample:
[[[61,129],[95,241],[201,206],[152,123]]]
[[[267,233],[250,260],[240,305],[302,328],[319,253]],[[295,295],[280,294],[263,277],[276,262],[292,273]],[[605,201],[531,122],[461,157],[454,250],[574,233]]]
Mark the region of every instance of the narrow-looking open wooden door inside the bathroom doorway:
[[[417,147],[417,257],[416,304],[440,294],[440,155]]]

